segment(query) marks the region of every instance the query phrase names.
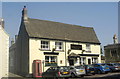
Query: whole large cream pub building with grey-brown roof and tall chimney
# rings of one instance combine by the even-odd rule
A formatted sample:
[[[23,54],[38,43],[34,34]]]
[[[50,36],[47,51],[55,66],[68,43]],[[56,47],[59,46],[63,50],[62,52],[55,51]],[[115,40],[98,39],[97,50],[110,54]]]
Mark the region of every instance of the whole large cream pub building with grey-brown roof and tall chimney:
[[[100,53],[92,27],[32,19],[24,7],[17,39],[10,47],[11,72],[32,74],[34,60],[42,61],[42,72],[56,65],[101,63]]]

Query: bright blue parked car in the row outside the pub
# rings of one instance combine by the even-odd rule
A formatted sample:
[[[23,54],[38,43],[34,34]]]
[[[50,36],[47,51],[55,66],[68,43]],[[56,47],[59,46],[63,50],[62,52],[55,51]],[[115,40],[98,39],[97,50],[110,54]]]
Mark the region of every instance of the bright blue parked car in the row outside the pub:
[[[98,74],[110,72],[109,66],[104,63],[97,63],[92,65],[95,67]]]

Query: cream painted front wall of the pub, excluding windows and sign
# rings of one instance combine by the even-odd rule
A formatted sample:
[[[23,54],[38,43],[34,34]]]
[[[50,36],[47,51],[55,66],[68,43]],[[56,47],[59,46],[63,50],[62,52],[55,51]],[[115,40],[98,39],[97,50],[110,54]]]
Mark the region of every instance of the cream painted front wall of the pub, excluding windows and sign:
[[[50,42],[50,50],[41,50],[41,41],[49,41]],[[58,41],[58,40],[57,40]],[[54,51],[55,53],[59,53],[59,55],[44,55],[44,52],[52,52],[53,48],[55,48],[55,42],[56,40],[44,40],[44,39],[29,39],[29,73],[32,73],[32,63],[34,60],[42,60],[42,62],[45,62],[45,56],[57,56],[57,64],[58,66],[69,66],[69,59],[68,56],[71,53],[75,53],[75,54],[82,54],[82,50],[86,50],[86,43],[76,43],[76,42],[66,42],[66,41],[60,41],[59,42],[63,42],[63,50],[62,51]],[[82,45],[82,50],[72,50],[71,49],[71,44],[74,45]],[[91,46],[91,52],[83,52],[83,55],[85,54],[95,54],[98,56],[80,56],[80,58],[85,57],[85,63],[84,64],[88,64],[88,59],[91,60],[91,64],[92,62],[92,58],[97,58],[98,62],[96,63],[101,63],[101,54],[100,54],[100,45],[97,44],[90,44]],[[68,54],[68,51],[71,50]],[[82,60],[80,60],[80,58],[77,58],[77,60],[74,59],[74,65],[80,65],[80,61],[82,62]],[[62,61],[62,64],[60,63],[60,61]],[[44,66],[43,66],[44,65]],[[42,63],[42,72],[46,71],[47,68],[49,68],[50,66],[45,66],[45,64]]]

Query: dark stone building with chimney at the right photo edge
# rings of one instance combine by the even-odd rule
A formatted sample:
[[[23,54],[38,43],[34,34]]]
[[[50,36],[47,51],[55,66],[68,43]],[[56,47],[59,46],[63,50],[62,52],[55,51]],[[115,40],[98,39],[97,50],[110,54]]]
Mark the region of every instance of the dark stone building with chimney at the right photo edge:
[[[114,44],[104,46],[105,62],[120,63],[120,43],[118,43],[116,34],[113,37]]]

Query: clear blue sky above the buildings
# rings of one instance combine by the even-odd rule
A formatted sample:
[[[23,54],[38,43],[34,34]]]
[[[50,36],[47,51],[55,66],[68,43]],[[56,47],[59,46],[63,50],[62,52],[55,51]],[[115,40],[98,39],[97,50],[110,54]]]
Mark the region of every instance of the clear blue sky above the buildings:
[[[112,44],[113,35],[118,35],[117,2],[3,2],[10,39],[18,34],[24,5],[30,18],[93,27],[102,46]]]

